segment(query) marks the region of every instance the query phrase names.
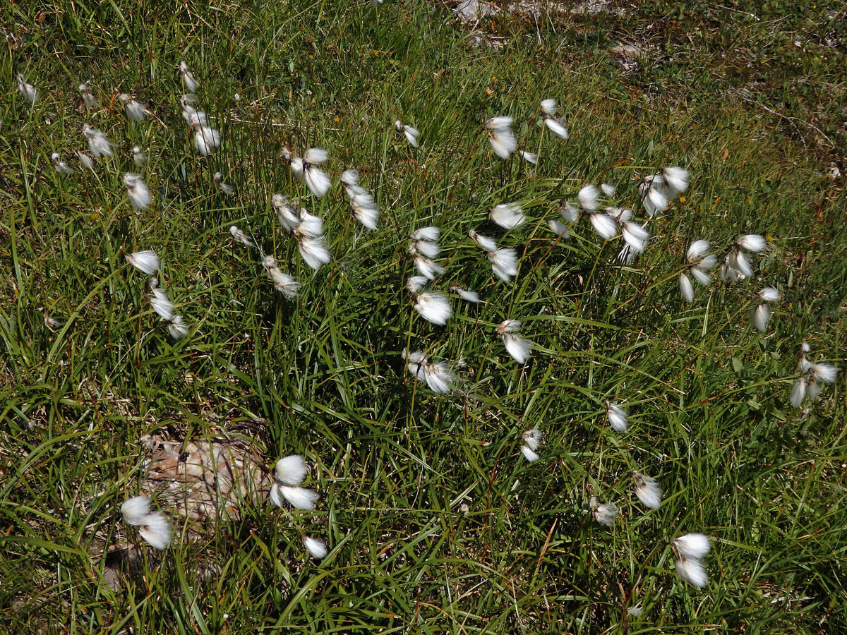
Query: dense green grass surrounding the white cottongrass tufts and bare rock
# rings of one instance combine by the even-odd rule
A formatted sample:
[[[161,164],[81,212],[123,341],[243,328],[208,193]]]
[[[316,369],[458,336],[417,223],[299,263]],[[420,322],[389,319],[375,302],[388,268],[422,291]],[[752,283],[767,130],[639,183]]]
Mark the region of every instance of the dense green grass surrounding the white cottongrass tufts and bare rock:
[[[19,3],[3,25],[0,629],[847,628],[844,380],[808,410],[788,401],[802,341],[813,360],[844,367],[844,193],[805,138],[712,90],[728,84],[702,64],[706,44],[653,68],[656,91],[655,77],[639,85],[617,68],[606,19],[501,19],[501,50],[473,47],[446,9],[416,2],[196,13]],[[180,116],[180,59],[221,131],[211,157],[197,157]],[[14,91],[19,72],[39,89],[35,108]],[[75,91],[87,79],[106,105],[96,113]],[[109,107],[113,89],[134,89],[155,117],[128,124],[116,99]],[[567,112],[567,143],[536,119],[544,97]],[[537,168],[491,154],[480,126],[501,114],[540,153]],[[422,130],[421,148],[395,119]],[[85,123],[118,143],[116,158],[60,177],[50,155],[75,165]],[[134,145],[151,157],[142,213],[121,181]],[[307,195],[283,146],[327,148],[336,176],[358,168],[379,230],[358,226],[337,182],[320,201]],[[587,182],[617,185],[619,203],[638,209],[639,177],[673,164],[691,186],[650,223],[633,265],[617,265],[620,239],[604,245],[585,218],[569,240],[547,229],[556,200]],[[234,197],[217,191],[217,171]],[[274,192],[302,195],[324,218],[331,265],[305,266],[270,209]],[[485,218],[510,200],[530,222],[506,234]],[[233,244],[233,223],[300,278],[296,301],[274,291],[256,251]],[[427,224],[442,229],[437,288],[484,300],[454,304],[445,328],[405,291],[407,235]],[[518,247],[512,284],[492,277],[469,229]],[[715,281],[685,305],[676,279],[689,243],[723,249],[745,233],[769,239],[756,278]],[[185,340],[169,338],[122,248],[158,251],[191,323]],[[783,299],[760,334],[747,316],[766,285]],[[47,329],[44,312],[61,324]],[[495,337],[507,318],[534,340],[526,367]],[[463,357],[457,394],[414,384],[407,346]],[[606,424],[606,399],[627,406],[627,432]],[[109,591],[103,545],[137,539],[119,505],[143,478],[141,437],[220,437],[251,417],[268,421],[268,468],[293,452],[313,464],[318,509],[252,506],[201,541],[176,538],[158,566]],[[532,427],[546,441],[529,464],[518,448]],[[658,511],[634,499],[633,469],[660,479]],[[613,527],[591,516],[592,495],[622,508]],[[304,527],[328,539],[318,564]],[[695,531],[713,541],[702,590],[676,577],[667,545]],[[628,616],[635,605],[641,616]]]

